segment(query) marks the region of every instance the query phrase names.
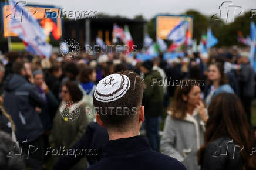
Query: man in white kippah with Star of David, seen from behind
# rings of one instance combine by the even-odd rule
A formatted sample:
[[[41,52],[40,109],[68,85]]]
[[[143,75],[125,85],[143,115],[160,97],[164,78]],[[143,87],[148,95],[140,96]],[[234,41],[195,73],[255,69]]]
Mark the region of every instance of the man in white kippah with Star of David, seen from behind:
[[[143,82],[132,71],[110,74],[97,84],[93,104],[99,125],[107,128],[109,141],[103,144],[103,158],[93,169],[186,169],[181,162],[153,151],[139,135],[144,121]]]

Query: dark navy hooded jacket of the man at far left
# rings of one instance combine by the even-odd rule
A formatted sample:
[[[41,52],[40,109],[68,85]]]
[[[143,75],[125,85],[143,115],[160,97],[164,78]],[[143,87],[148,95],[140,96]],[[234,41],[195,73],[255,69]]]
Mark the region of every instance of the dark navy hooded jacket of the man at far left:
[[[35,107],[43,107],[45,101],[38,89],[25,77],[13,74],[6,80],[4,106],[16,126],[16,137],[19,142],[31,142],[42,135],[43,126]]]

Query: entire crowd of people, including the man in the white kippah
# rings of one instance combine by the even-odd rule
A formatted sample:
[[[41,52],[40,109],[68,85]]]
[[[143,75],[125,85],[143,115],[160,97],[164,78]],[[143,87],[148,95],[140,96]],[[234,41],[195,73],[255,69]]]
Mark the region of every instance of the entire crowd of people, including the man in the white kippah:
[[[7,52],[0,169],[256,169],[248,56]]]

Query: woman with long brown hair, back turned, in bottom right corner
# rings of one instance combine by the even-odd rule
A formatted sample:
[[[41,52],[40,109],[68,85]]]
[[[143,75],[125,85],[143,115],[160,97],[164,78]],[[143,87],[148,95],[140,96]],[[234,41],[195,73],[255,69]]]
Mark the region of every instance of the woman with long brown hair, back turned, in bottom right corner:
[[[205,145],[198,152],[201,169],[255,169],[254,136],[239,98],[218,94],[208,115]]]

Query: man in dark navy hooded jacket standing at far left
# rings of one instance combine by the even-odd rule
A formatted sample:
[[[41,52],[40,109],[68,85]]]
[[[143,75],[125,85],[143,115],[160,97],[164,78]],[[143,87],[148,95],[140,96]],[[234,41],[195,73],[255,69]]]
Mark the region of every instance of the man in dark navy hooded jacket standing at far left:
[[[43,169],[43,125],[36,107],[45,107],[45,100],[36,86],[28,81],[30,70],[26,69],[26,64],[22,61],[13,64],[14,74],[5,81],[4,107],[14,121],[26,167],[39,170]]]

